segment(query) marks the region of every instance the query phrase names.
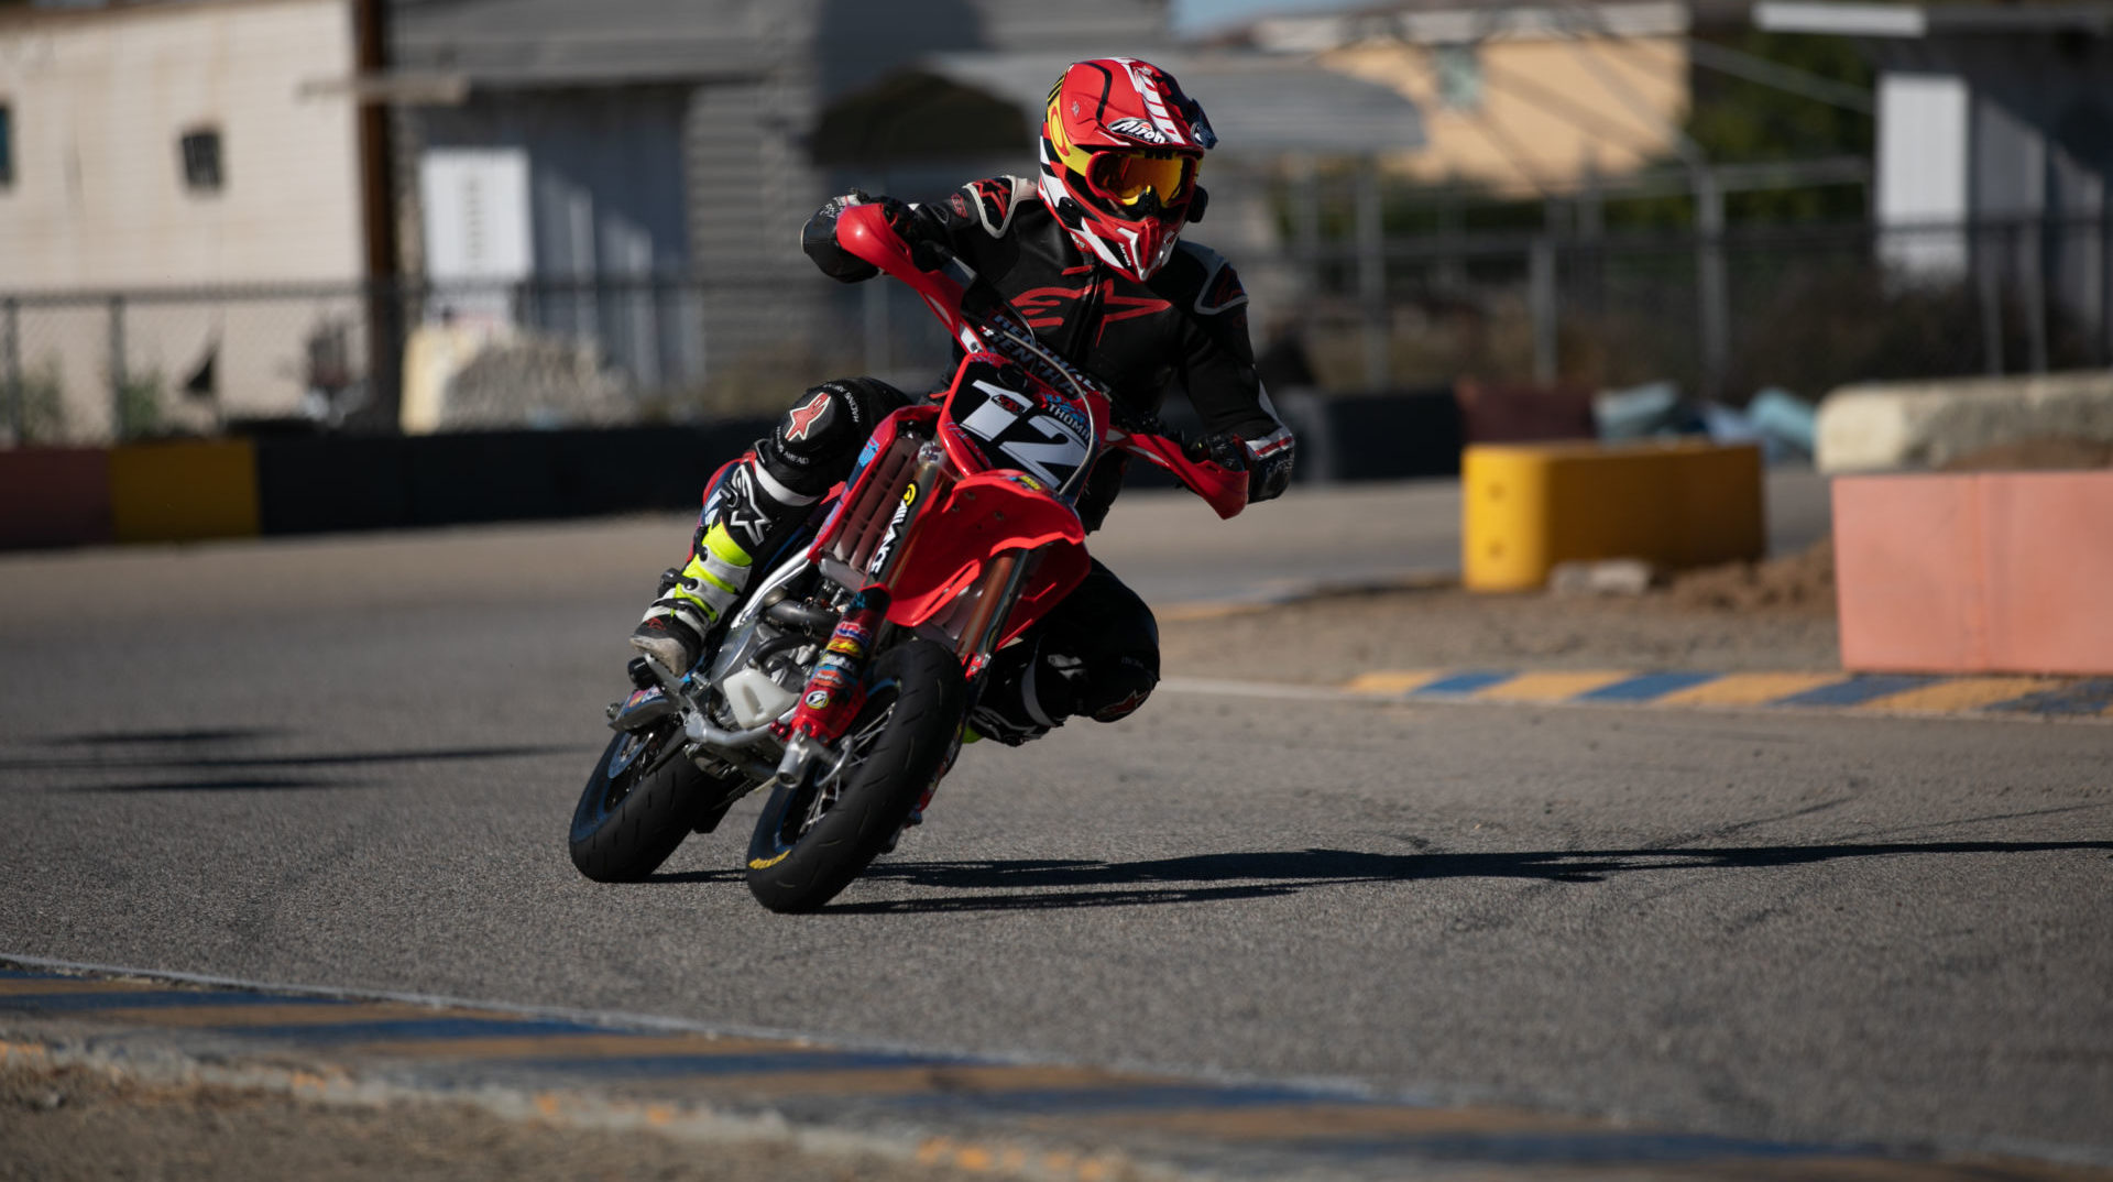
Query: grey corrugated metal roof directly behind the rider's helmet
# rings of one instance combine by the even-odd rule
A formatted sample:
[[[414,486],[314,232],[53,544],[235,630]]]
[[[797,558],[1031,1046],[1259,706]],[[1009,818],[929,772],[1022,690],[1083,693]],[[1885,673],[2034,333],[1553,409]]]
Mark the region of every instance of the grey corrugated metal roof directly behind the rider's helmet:
[[[1042,123],[1050,85],[1073,59],[1048,53],[942,53],[921,68],[1021,104]],[[1154,53],[1202,104],[1226,152],[1403,152],[1424,146],[1424,121],[1399,93],[1261,53]]]

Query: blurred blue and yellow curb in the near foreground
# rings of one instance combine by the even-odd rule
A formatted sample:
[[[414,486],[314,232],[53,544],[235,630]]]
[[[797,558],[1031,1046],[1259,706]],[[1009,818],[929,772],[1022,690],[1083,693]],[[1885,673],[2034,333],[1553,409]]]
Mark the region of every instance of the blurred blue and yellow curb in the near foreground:
[[[2113,1169],[2022,1159],[1946,1161],[1921,1150],[1625,1127],[1517,1108],[1458,1108],[1346,1089],[1236,1083],[1090,1066],[835,1047],[790,1036],[604,1026],[577,1015],[275,987],[201,987],[0,966],[0,1066],[57,1061],[34,1026],[93,1021],[93,1045],[211,1034],[251,1049],[218,1061],[277,1070],[287,1091],[351,1095],[363,1081],[412,1081],[435,1097],[513,1089],[547,1121],[615,1116],[680,1131],[725,1114],[792,1127],[923,1129],[904,1157],[1021,1178],[1111,1182],[1166,1146],[1185,1167],[1242,1174],[1397,1178],[1481,1169],[1502,1176],[1769,1178],[1828,1165],[1870,1180],[2094,1178]],[[165,1049],[165,1042],[154,1042]],[[287,1061],[298,1066],[287,1068]],[[418,1074],[425,1072],[425,1074]],[[437,1081],[437,1083],[435,1083]],[[404,1087],[404,1085],[399,1085]],[[902,1135],[902,1133],[896,1133]],[[1997,1174],[1990,1174],[1995,1169]]]

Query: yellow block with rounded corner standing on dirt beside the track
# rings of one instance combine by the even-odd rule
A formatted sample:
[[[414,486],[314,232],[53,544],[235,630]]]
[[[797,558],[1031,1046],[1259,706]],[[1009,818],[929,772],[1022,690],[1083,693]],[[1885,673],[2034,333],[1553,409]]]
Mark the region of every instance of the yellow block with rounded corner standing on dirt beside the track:
[[[1477,444],[1460,461],[1471,590],[1532,590],[1557,562],[1703,567],[1766,550],[1760,448]]]

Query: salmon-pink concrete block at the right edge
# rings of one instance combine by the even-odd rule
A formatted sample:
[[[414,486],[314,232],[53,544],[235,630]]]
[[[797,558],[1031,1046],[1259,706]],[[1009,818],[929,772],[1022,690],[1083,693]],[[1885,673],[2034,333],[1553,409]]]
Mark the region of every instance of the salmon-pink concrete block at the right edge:
[[[1834,482],[1843,668],[2113,675],[2113,472]]]

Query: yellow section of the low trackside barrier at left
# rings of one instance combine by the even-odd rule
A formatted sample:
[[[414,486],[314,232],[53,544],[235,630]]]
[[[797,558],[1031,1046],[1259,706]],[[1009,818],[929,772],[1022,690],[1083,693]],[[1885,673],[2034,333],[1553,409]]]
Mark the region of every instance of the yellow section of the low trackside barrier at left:
[[[118,541],[256,537],[256,448],[249,440],[110,448],[110,518]]]

